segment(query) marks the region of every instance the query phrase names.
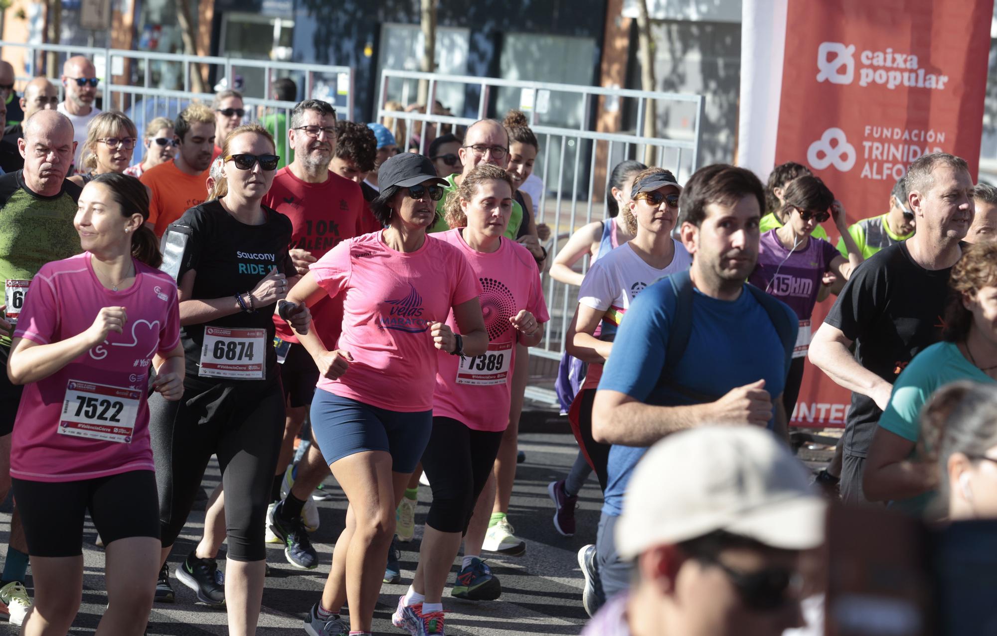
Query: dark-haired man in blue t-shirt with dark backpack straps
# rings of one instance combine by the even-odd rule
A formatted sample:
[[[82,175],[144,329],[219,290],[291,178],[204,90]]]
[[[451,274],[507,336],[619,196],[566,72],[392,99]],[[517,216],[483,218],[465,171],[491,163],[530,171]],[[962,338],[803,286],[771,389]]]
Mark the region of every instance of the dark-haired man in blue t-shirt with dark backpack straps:
[[[787,435],[782,393],[798,320],[789,306],[745,282],[758,260],[762,183],[742,167],[708,165],[689,179],[679,205],[692,267],[634,299],[592,407],[592,436],[613,446],[597,543],[578,553],[589,611],[631,582],[614,528],[627,481],[649,447],[671,433],[716,424]]]

